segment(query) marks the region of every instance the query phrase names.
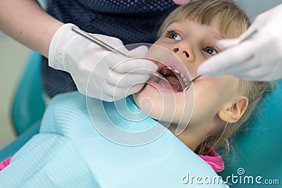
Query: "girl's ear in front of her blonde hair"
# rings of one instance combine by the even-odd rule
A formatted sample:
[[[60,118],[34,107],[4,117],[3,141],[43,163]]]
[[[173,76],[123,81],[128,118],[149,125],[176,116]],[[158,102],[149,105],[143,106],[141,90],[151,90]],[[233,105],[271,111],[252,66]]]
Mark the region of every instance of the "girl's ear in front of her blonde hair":
[[[219,118],[227,123],[235,123],[245,113],[248,104],[249,100],[246,96],[238,96],[230,108],[219,111]]]

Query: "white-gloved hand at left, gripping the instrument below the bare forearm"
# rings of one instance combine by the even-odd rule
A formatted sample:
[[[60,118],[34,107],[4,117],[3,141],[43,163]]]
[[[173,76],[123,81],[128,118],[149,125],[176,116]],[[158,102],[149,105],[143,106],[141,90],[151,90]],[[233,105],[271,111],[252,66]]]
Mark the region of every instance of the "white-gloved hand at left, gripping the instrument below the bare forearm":
[[[128,58],[78,35],[71,30],[73,26],[62,25],[52,38],[49,66],[70,73],[80,93],[104,101],[122,99],[139,92],[149,73],[158,69],[155,63],[144,59],[147,46],[128,51],[119,39],[92,34],[127,56],[143,57]]]

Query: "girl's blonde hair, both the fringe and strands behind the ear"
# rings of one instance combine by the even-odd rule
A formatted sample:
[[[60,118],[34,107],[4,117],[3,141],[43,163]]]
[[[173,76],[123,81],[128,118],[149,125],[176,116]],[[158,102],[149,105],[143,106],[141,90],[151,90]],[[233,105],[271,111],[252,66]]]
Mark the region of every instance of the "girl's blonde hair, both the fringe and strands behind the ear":
[[[250,20],[246,13],[232,0],[192,0],[185,6],[179,6],[161,25],[158,37],[175,20],[191,20],[202,25],[210,26],[212,20],[219,15],[220,32],[223,38],[238,37],[250,26]],[[240,80],[237,94],[244,95],[248,99],[247,110],[237,123],[228,124],[219,132],[209,135],[196,149],[197,153],[205,154],[207,146],[217,149],[223,146],[227,151],[231,148],[229,139],[247,123],[254,112],[255,107],[262,99],[266,89],[266,82]],[[232,96],[231,96],[232,97]]]

